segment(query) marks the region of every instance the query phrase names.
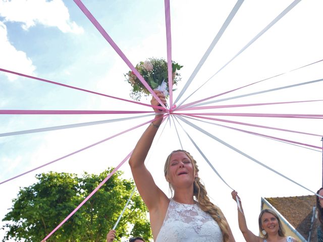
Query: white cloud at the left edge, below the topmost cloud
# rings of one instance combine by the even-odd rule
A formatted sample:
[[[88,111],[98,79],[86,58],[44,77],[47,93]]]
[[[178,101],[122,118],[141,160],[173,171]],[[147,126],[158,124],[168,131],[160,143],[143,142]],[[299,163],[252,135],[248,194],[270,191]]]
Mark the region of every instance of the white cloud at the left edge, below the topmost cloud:
[[[1,8],[0,8],[1,9]],[[0,21],[0,67],[7,70],[16,70],[19,67],[19,72],[26,75],[32,75],[35,71],[35,66],[32,61],[27,57],[26,53],[17,50],[8,40],[7,27]],[[13,81],[17,76],[6,74],[8,79]]]

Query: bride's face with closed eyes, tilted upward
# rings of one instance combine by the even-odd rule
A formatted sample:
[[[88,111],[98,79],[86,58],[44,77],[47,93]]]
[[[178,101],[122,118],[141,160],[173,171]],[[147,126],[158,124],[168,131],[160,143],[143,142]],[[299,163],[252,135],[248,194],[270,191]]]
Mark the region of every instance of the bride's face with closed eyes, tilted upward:
[[[192,161],[184,151],[173,152],[165,164],[165,177],[172,188],[193,186],[195,168]]]

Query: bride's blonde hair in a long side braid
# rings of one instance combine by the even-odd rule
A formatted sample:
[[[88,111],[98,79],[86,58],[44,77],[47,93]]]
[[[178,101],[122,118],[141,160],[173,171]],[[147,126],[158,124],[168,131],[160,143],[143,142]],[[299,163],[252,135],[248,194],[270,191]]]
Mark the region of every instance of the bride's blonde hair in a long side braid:
[[[174,150],[168,157],[165,162],[164,166],[164,173],[165,177],[167,177],[167,174],[169,173],[170,169],[170,162],[171,162],[171,156],[176,152],[183,152],[187,155],[187,157],[190,159],[190,161],[193,164],[193,171],[194,173],[198,173],[199,169],[196,164],[196,160],[193,159],[193,156],[185,150]],[[169,182],[170,190],[173,195],[173,187],[172,184]],[[206,189],[204,185],[201,183],[201,179],[197,176],[195,177],[194,184],[193,184],[193,196],[195,197],[196,201],[198,202],[199,207],[206,213],[208,213],[220,226],[220,229],[222,231],[223,241],[227,242],[229,241],[229,224],[224,217],[221,209],[211,203],[209,197],[207,196]]]

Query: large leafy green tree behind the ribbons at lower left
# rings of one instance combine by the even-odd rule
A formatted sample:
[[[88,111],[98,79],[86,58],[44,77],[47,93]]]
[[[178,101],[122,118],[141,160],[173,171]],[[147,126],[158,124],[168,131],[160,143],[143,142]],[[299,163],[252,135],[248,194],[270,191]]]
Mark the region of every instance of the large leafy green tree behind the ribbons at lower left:
[[[109,168],[99,175],[49,172],[37,174],[37,183],[21,188],[13,206],[3,219],[6,236],[3,241],[40,241],[68,216],[98,184],[111,173]],[[47,239],[50,241],[105,241],[124,208],[134,183],[121,178],[117,171],[68,220]],[[150,239],[147,208],[135,193],[117,227],[117,238],[142,236]]]

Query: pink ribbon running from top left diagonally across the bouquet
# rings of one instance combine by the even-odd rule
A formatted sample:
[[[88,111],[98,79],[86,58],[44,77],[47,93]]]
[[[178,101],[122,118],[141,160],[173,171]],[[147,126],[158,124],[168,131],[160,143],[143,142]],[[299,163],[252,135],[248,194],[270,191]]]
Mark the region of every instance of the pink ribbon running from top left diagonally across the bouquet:
[[[157,95],[154,93],[154,91],[150,88],[150,86],[147,84],[145,79],[139,74],[137,69],[130,63],[129,59],[126,57],[126,55],[121,51],[121,49],[118,47],[118,45],[112,40],[112,38],[105,32],[103,27],[97,22],[97,20],[93,17],[93,15],[88,11],[88,9],[84,6],[81,0],[74,0],[75,4],[82,10],[82,12],[85,14],[85,16],[91,21],[91,23],[95,26],[95,28],[101,33],[101,35],[105,38],[107,42],[114,48],[114,50],[119,54],[119,56],[123,59],[123,61],[128,65],[128,67],[131,69],[131,71],[138,77],[140,82],[145,86],[145,88],[151,93],[154,98],[160,103],[160,105],[164,108],[166,106],[163,102],[160,101],[160,99],[157,97]]]

